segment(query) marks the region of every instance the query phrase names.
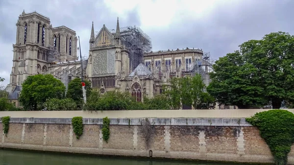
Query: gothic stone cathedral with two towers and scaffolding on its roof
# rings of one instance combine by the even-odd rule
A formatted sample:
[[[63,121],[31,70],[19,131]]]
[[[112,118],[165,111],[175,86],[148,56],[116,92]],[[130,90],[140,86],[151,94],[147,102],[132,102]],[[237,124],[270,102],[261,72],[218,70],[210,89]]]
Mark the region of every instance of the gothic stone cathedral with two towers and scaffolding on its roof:
[[[101,94],[108,91],[129,92],[137,101],[144,95],[151,98],[162,93],[162,85],[171,77],[201,73],[209,83],[209,56],[199,48],[152,51],[151,39],[139,27],[115,29],[102,25],[95,34],[94,23],[89,40],[88,59],[77,61],[75,31],[66,27],[52,27],[48,17],[37,12],[22,13],[16,24],[16,43],[13,45],[13,66],[6,90],[9,99],[19,106],[18,97],[26,77],[52,74],[65,86],[75,77],[91,82]]]

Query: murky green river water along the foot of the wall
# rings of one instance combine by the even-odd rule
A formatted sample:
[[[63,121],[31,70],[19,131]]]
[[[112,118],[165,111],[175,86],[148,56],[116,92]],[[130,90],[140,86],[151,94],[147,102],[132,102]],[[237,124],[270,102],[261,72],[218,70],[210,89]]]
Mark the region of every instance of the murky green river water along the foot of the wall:
[[[0,149],[0,165],[230,165],[135,158],[107,158]],[[234,164],[236,165],[236,164]],[[244,165],[244,164],[243,164]]]

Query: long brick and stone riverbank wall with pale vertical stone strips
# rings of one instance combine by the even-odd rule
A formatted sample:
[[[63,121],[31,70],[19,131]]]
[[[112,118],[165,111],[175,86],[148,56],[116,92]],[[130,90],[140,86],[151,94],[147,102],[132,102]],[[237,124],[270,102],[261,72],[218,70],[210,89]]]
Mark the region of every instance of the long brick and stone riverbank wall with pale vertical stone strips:
[[[42,113],[47,116],[40,118]],[[259,130],[245,121],[252,115],[248,113],[243,118],[229,115],[228,118],[125,118],[122,115],[123,118],[110,118],[108,142],[102,138],[103,117],[98,117],[100,112],[92,113],[92,118],[89,112],[73,111],[68,112],[69,118],[51,118],[56,113],[58,116],[64,112],[0,112],[0,117],[11,117],[8,133],[0,134],[0,147],[151,159],[273,163],[270,148],[260,137]],[[84,131],[79,139],[76,139],[71,124],[71,114],[75,116],[74,113],[84,116]],[[148,147],[143,134],[146,119],[154,130]],[[0,131],[3,131],[2,123]],[[294,164],[294,146],[288,161]]]

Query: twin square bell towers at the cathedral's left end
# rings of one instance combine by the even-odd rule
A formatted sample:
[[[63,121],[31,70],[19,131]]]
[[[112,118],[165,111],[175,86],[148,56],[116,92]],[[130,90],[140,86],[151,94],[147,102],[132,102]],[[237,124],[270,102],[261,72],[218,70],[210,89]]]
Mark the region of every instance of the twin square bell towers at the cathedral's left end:
[[[77,37],[66,27],[52,27],[50,19],[37,12],[23,13],[16,23],[13,44],[13,65],[6,87],[9,99],[18,105],[19,93],[25,79],[34,74],[51,73],[68,83],[65,74],[78,76]]]

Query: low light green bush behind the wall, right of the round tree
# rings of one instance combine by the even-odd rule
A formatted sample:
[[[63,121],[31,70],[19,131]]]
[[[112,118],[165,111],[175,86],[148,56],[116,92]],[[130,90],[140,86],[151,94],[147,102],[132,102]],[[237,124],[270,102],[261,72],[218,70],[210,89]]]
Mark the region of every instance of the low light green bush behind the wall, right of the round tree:
[[[45,102],[48,111],[73,111],[76,110],[76,104],[71,98],[51,98]]]

